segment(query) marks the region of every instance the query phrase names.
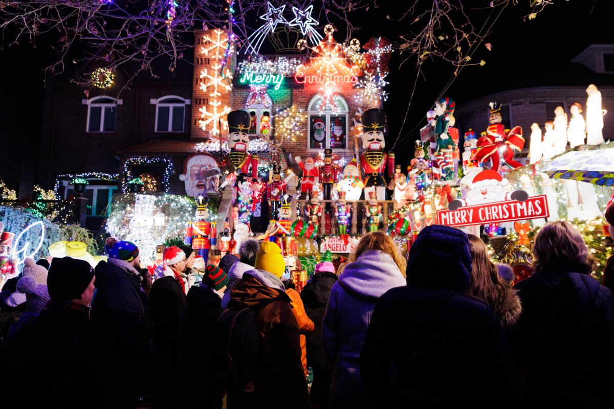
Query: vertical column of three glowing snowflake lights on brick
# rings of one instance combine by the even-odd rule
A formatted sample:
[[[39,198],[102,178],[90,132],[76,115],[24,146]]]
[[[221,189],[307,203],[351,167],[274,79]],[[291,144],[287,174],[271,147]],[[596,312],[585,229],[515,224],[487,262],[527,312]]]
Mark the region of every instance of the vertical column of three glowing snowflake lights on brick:
[[[232,89],[231,80],[232,74],[230,69],[223,69],[220,64],[220,59],[223,59],[228,52],[228,36],[220,29],[213,31],[214,36],[203,36],[203,42],[209,42],[209,47],[201,47],[201,53],[211,59],[216,60],[211,69],[203,69],[200,72],[200,88],[203,91],[210,91],[209,108],[201,107],[198,111],[201,113],[201,120],[198,120],[203,131],[209,131],[212,135],[219,135],[222,129],[228,129],[226,115],[230,112],[230,107],[222,105],[222,101],[217,97],[222,96],[222,92],[228,93]],[[221,128],[221,129],[220,129]]]

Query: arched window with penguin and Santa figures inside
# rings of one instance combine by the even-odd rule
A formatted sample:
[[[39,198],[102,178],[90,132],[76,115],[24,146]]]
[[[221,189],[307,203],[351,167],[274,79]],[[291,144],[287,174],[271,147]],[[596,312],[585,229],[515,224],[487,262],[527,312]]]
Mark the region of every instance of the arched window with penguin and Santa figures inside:
[[[342,97],[335,98],[336,110],[328,104],[320,110],[322,97],[314,96],[309,102],[309,149],[348,148],[348,103]]]

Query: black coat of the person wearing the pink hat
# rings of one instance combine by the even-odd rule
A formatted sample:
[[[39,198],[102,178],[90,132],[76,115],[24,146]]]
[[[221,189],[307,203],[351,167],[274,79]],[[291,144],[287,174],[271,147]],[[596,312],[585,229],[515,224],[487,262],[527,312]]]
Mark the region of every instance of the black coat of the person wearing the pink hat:
[[[330,296],[330,289],[336,283],[337,277],[322,277],[315,273],[311,281],[301,291],[301,299],[305,305],[305,312],[315,325],[313,332],[305,334],[307,338],[307,365],[317,369],[326,369],[326,355],[322,345],[322,321]]]

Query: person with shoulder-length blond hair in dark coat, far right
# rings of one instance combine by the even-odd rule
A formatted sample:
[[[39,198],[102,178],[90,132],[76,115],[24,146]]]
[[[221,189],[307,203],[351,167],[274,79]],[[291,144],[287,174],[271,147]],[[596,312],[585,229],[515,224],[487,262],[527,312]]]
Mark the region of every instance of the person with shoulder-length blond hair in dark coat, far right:
[[[614,293],[592,277],[594,258],[567,221],[544,224],[533,254],[535,273],[515,286],[523,315],[510,335],[523,400],[611,405]]]

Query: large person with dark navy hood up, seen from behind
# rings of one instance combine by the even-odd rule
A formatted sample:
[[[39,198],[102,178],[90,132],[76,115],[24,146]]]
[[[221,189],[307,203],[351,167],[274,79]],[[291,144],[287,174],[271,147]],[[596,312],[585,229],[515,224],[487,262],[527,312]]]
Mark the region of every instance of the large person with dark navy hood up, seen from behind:
[[[453,227],[424,227],[411,245],[407,285],[379,299],[360,353],[373,407],[511,405],[501,321],[464,293],[471,263],[467,235]]]

